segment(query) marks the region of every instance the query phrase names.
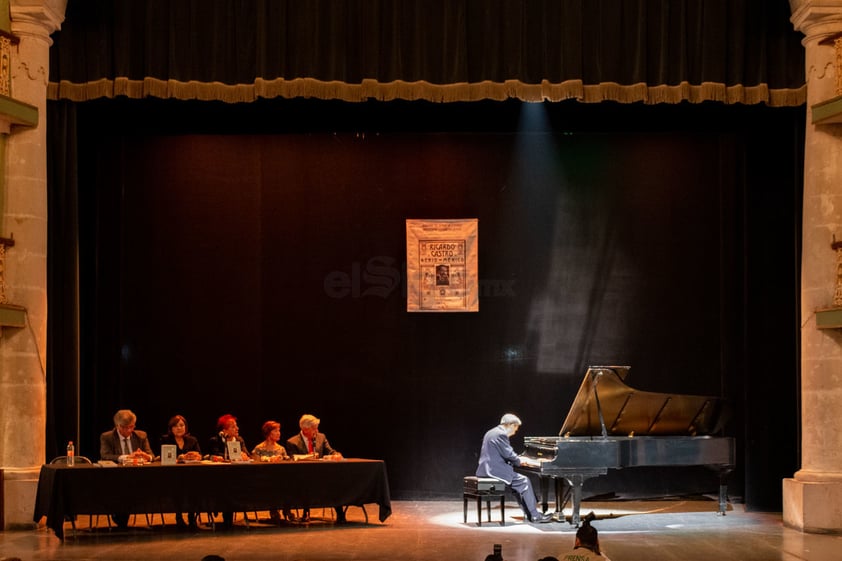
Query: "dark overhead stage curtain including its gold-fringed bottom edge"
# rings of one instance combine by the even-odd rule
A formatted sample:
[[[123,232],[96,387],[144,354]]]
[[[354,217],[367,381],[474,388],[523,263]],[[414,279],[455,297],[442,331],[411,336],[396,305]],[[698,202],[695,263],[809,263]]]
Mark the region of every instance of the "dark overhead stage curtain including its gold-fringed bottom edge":
[[[786,0],[89,0],[52,99],[804,103]]]

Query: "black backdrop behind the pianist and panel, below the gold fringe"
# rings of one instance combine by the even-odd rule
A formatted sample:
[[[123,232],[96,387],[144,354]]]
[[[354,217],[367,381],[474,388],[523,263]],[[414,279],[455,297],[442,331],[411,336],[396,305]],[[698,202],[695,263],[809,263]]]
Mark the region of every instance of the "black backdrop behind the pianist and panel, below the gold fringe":
[[[779,509],[799,465],[804,119],[715,104],[51,102],[53,150],[78,151],[79,453],[97,457],[123,407],[153,436],[183,414],[202,442],[232,413],[249,446],[265,420],[286,438],[309,412],[345,455],[386,460],[395,498],[455,497],[502,413],[524,421],[516,448],[556,434],[587,366],[626,364],[638,389],[727,397],[732,495]],[[55,244],[74,225],[50,218]],[[478,313],[406,312],[407,218],[479,219]],[[50,282],[57,322],[66,297]],[[62,365],[50,371],[52,450],[74,436],[76,403]],[[626,470],[586,495],[716,485]]]

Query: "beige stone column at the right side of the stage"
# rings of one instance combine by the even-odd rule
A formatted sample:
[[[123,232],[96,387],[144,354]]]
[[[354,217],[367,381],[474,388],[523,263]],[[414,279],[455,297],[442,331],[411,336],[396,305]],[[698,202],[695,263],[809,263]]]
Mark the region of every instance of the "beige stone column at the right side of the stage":
[[[807,129],[801,262],[801,469],[783,481],[783,519],[805,532],[842,532],[842,329],[818,329],[832,306],[834,236],[842,239],[842,125],[812,122],[811,107],[840,95],[836,48],[842,0],[790,0],[804,33]]]

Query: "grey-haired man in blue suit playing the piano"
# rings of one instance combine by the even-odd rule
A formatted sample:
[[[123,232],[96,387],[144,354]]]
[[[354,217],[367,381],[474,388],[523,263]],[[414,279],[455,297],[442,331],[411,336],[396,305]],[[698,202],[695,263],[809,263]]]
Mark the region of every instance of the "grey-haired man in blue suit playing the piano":
[[[552,516],[538,512],[538,501],[529,479],[514,470],[515,466],[520,465],[520,458],[515,454],[509,437],[517,432],[520,425],[520,419],[516,415],[506,413],[500,419],[499,425],[485,433],[479,453],[477,476],[505,481],[514,491],[520,508],[530,522],[551,522]]]

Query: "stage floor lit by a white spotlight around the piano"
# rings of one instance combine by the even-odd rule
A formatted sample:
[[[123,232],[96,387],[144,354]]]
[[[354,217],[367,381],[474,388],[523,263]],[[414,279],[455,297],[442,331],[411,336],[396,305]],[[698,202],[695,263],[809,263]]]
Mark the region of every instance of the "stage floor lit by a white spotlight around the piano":
[[[506,525],[499,510],[491,524],[476,525],[475,505],[469,504],[468,524],[462,522],[461,501],[393,501],[392,515],[380,523],[376,506],[363,512],[351,508],[348,523],[334,525],[332,510],[315,510],[309,524],[270,525],[268,513],[247,528],[243,515],[228,532],[200,528],[176,530],[172,515],[152,526],[139,516],[126,531],[99,526],[88,529],[87,516],[77,521],[75,537],[68,524],[64,542],[46,527],[32,531],[0,532],[0,559],[39,560],[200,561],[216,554],[235,560],[365,560],[484,561],[495,543],[502,544],[507,561],[537,561],[572,545],[575,528],[566,523],[524,523],[513,500],[506,502]],[[582,513],[600,518],[605,553],[612,561],[831,561],[839,559],[842,536],[803,534],[785,528],[780,513],[745,512],[729,505],[728,514],[715,513],[708,500],[584,502]],[[569,508],[568,512],[569,514]],[[483,518],[485,520],[485,518]]]

